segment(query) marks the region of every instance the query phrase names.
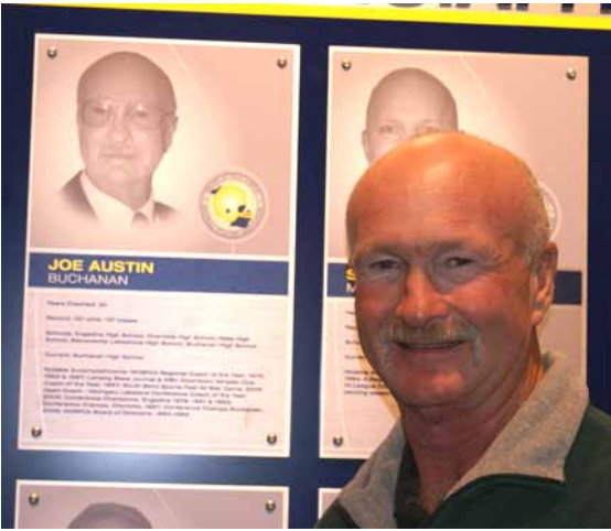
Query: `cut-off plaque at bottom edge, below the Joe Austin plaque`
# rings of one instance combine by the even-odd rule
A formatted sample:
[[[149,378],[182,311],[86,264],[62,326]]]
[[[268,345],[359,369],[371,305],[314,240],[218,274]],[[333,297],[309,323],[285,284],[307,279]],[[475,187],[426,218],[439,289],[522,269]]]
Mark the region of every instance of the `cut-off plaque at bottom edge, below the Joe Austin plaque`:
[[[19,480],[17,529],[286,529],[288,488]]]

